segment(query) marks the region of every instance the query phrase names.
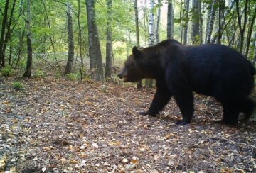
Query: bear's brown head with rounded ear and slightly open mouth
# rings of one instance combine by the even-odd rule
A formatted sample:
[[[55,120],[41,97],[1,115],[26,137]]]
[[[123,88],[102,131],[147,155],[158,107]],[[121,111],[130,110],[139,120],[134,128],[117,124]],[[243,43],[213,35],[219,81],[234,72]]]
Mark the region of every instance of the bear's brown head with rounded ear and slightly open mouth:
[[[136,46],[132,48],[132,55],[129,55],[124,62],[124,68],[117,74],[124,82],[138,82],[144,78],[142,67],[142,50]]]

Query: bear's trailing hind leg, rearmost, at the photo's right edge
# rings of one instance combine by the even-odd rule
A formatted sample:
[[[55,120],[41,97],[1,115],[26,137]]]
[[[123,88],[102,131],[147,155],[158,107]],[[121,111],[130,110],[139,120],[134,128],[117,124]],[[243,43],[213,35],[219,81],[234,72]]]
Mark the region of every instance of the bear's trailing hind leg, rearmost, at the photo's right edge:
[[[240,111],[245,113],[245,121],[248,120],[254,111],[255,102],[250,98],[245,98],[240,101]]]

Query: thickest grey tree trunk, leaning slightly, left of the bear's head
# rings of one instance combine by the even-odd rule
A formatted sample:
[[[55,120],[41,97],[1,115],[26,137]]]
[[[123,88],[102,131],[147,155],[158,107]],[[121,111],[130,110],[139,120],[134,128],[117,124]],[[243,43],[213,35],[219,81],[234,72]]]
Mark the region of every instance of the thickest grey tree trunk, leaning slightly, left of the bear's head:
[[[100,40],[95,20],[95,1],[86,0],[91,78],[104,81]]]

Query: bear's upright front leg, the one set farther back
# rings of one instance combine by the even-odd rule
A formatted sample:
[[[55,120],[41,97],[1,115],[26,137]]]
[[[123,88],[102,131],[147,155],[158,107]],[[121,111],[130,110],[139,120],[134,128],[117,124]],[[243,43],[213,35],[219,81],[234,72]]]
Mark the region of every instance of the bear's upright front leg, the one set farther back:
[[[193,116],[193,93],[192,91],[181,91],[174,94],[176,104],[181,110],[182,121],[177,121],[176,125],[185,125],[191,123]]]

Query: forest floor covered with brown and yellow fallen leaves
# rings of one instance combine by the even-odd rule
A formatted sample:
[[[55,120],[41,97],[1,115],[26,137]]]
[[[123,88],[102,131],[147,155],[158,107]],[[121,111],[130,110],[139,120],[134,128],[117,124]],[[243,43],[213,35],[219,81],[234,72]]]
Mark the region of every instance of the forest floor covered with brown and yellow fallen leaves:
[[[200,95],[189,125],[174,124],[174,99],[159,116],[139,115],[153,96],[124,84],[1,77],[0,172],[256,172],[254,122],[219,124],[220,104]]]

